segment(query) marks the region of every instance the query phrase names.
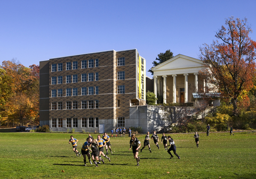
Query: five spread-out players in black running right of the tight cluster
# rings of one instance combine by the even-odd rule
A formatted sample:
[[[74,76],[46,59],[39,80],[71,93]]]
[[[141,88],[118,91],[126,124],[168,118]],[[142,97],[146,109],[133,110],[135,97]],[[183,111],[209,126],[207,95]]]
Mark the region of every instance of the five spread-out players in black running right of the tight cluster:
[[[156,146],[159,149],[159,144],[158,144],[159,138],[158,138],[158,136],[157,136],[155,131],[154,131],[154,134],[151,135],[151,139],[154,140],[154,143],[156,144]],[[147,135],[146,135],[145,140],[144,140],[144,146],[142,147],[140,152],[142,152],[142,150],[146,146],[148,146],[149,151],[152,152],[151,149],[150,149],[149,140],[150,140],[149,132],[147,132]],[[169,149],[167,148],[167,147],[169,147],[169,146],[167,146],[167,141],[169,141],[169,146],[170,146]],[[177,156],[180,159],[179,155],[176,153],[175,143],[174,143],[174,141],[173,141],[173,139],[171,138],[170,135],[168,137],[166,137],[165,133],[163,133],[161,143],[162,142],[164,144],[165,150],[168,150],[167,152],[171,155],[171,158],[173,158],[173,155],[171,154],[171,151],[173,151],[174,155]],[[137,160],[137,166],[139,166],[140,157],[138,155],[139,155],[139,148],[141,147],[141,142],[138,140],[138,138],[135,137],[135,134],[131,135],[130,149],[129,150],[131,150],[131,147],[132,147],[133,157]]]

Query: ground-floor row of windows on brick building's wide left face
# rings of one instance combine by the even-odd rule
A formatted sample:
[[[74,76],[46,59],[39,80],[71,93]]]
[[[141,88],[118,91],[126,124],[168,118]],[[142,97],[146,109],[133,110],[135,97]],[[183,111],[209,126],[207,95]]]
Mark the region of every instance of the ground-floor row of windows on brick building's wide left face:
[[[81,126],[82,127],[99,127],[99,118],[98,117],[82,117],[81,118]],[[52,127],[78,127],[78,119],[77,118],[66,118],[66,124],[63,124],[62,118],[52,118]]]

